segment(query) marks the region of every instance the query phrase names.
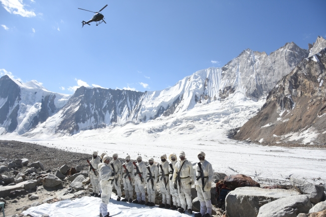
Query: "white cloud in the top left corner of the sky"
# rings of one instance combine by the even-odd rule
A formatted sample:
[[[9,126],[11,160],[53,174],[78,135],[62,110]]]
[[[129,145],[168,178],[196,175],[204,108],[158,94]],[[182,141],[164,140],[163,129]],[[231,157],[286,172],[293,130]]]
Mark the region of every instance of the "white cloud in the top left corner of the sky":
[[[24,8],[26,5],[23,4],[23,0],[0,0],[0,2],[10,14],[20,15],[26,18],[36,16],[33,11],[28,11]]]

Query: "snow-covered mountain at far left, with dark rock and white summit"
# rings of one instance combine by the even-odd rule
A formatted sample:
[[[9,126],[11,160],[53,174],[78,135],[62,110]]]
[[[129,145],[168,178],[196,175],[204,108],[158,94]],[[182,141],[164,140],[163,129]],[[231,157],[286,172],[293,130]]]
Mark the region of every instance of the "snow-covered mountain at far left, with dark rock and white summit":
[[[53,93],[37,81],[0,78],[0,134],[22,135],[56,114],[70,95]]]

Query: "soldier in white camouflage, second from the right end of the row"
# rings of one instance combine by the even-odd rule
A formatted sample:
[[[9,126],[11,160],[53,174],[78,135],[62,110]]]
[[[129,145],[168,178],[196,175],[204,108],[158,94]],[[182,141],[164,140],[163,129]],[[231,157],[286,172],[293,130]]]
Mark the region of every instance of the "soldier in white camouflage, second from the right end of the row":
[[[186,156],[185,152],[180,152],[180,155]],[[185,163],[184,163],[185,162]],[[182,166],[181,170],[180,167]],[[178,180],[178,173],[180,172],[180,180],[181,180],[181,188],[179,187]],[[185,160],[180,160],[175,165],[175,171],[173,173],[172,181],[177,184],[179,198],[181,202],[181,207],[186,210],[186,206],[188,205],[188,209],[192,209],[192,198],[191,198],[191,183],[193,182],[194,178],[194,169],[192,163],[185,158]]]

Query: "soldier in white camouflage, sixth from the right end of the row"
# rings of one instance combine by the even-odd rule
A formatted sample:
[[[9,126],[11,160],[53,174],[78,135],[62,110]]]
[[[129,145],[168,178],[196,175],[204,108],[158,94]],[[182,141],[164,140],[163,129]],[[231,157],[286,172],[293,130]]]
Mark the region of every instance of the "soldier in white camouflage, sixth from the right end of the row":
[[[142,159],[141,156],[138,156],[137,157],[137,160],[138,159]],[[140,161],[140,163],[136,163],[136,165],[138,166],[139,168],[139,172],[141,173],[142,175],[142,182],[140,180],[140,177],[139,177],[139,174],[136,174],[137,172],[137,169],[135,166],[133,166],[133,174],[135,175],[134,176],[134,182],[135,182],[135,191],[136,191],[136,194],[137,194],[137,200],[138,202],[140,202],[141,200],[145,201],[146,200],[146,193],[145,193],[145,184],[146,184],[146,176],[147,176],[147,169],[146,169],[146,165],[143,161]]]

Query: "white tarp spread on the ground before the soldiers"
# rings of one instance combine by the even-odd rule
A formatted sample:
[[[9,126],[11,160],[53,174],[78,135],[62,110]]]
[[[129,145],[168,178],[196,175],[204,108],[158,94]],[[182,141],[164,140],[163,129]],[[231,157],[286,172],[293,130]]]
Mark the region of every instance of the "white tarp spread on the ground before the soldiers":
[[[100,203],[101,199],[98,197],[85,196],[74,200],[66,199],[55,203],[43,203],[42,205],[27,209],[23,213],[34,217],[42,217],[43,214],[48,214],[50,217],[96,217],[99,216]],[[110,216],[114,217],[189,216],[178,211],[158,208],[157,205],[149,207],[122,201],[118,202],[113,194],[107,210],[110,212]]]

